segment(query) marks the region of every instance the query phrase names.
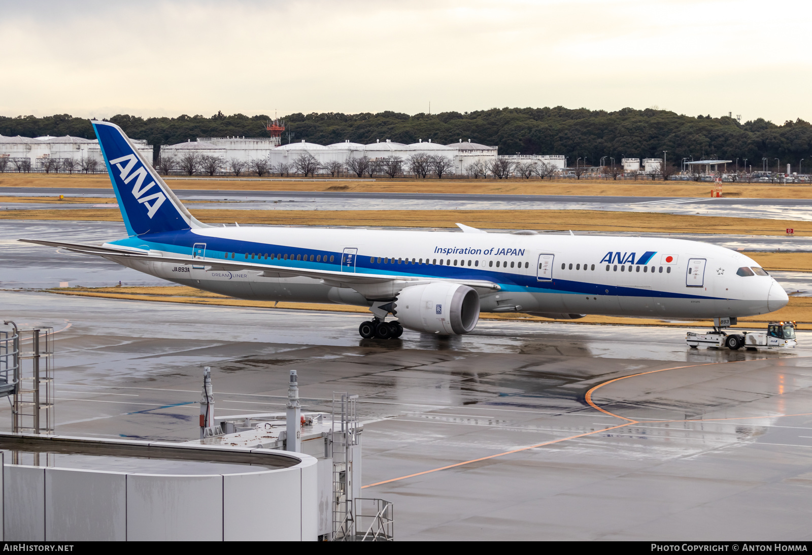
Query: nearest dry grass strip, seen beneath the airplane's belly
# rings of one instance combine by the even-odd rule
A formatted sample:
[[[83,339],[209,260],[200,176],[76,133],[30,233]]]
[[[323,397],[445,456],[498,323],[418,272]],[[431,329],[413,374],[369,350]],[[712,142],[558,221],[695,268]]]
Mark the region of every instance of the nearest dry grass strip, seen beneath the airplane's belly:
[[[77,295],[84,297],[101,297],[104,299],[126,299],[141,300],[160,303],[190,303],[207,304],[227,307],[252,307],[252,308],[287,308],[297,310],[326,310],[332,312],[357,312],[359,314],[369,314],[364,307],[353,307],[344,304],[317,304],[317,303],[274,303],[272,301],[251,301],[243,299],[233,299],[216,293],[209,293],[193,287],[184,286],[163,286],[163,287],[71,287],[54,288],[48,290],[59,295]],[[538,321],[550,322],[547,318],[530,316],[529,314],[494,314],[483,313],[480,316],[485,320],[510,320],[510,321]],[[749,316],[740,318],[740,328],[764,328],[769,321],[797,321],[799,323],[812,323],[812,298],[810,297],[790,297],[789,304],[778,312],[771,312],[764,316]],[[699,322],[674,322],[662,321],[650,318],[615,318],[612,316],[586,316],[581,320],[574,321],[578,324],[615,324],[615,325],[665,325],[673,327],[685,327],[686,325],[711,327],[711,321]]]

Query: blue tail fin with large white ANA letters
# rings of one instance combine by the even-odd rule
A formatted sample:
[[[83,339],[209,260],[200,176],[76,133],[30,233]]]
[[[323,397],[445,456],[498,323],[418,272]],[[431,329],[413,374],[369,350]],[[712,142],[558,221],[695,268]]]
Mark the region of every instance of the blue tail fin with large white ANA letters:
[[[102,148],[128,234],[207,227],[197,222],[180,204],[175,193],[145,161],[121,127],[110,122],[94,120],[91,123]]]

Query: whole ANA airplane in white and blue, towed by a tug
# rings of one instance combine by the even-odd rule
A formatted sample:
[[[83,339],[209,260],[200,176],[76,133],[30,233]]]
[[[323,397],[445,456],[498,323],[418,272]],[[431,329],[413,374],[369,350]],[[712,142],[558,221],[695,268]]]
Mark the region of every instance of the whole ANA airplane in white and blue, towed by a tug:
[[[91,123],[127,237],[20,241],[240,299],[367,307],[373,317],[359,326],[363,338],[398,338],[404,328],[461,335],[481,312],[735,321],[788,303],[754,260],[682,239],[496,234],[464,224],[462,233],[211,226],[188,212],[120,127]]]

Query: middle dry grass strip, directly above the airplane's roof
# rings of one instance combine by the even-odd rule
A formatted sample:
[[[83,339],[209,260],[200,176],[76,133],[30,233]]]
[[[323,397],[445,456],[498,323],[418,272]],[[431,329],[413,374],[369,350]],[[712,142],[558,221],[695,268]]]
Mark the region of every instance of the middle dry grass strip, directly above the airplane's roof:
[[[812,222],[749,217],[694,216],[597,210],[239,210],[191,211],[201,222],[287,226],[398,226],[455,228],[456,222],[491,230],[573,230],[659,233],[797,235],[812,233]],[[118,209],[0,210],[0,219],[95,220],[120,222]]]

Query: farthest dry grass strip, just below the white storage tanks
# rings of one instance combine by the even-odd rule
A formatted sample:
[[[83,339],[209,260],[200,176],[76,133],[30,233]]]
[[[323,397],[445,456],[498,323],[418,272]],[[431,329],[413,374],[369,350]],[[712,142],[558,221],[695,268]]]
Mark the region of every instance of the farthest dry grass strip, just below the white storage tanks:
[[[239,178],[237,178],[239,179]],[[376,179],[375,181],[326,181],[322,179],[272,180],[253,178],[238,181],[223,177],[171,179],[173,189],[248,191],[367,191],[473,193],[511,195],[589,195],[589,196],[710,196],[711,183],[664,181],[575,180],[539,181],[526,179]],[[246,178],[241,178],[246,179]],[[252,178],[248,178],[252,179]],[[106,174],[0,174],[0,187],[110,187]],[[57,192],[58,194],[58,192]],[[728,183],[723,196],[742,198],[810,199],[810,185],[765,185]]]

